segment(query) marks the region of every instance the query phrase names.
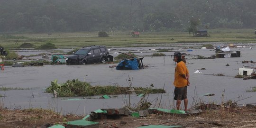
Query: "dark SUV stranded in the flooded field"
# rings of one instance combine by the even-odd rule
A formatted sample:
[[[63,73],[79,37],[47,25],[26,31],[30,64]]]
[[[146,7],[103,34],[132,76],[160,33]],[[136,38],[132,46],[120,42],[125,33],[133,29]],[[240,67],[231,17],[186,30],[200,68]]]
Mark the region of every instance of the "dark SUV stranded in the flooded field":
[[[105,46],[87,46],[77,50],[72,56],[66,58],[66,64],[92,64],[113,61]]]

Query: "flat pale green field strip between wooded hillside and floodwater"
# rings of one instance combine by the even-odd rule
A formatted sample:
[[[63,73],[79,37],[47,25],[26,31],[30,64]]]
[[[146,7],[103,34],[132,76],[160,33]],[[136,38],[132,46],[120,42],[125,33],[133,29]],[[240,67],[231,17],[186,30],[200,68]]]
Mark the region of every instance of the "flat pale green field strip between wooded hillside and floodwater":
[[[91,45],[103,45],[107,47],[136,47],[136,46],[156,46],[169,43],[194,43],[194,42],[225,42],[234,44],[236,42],[256,43],[254,29],[209,29],[210,37],[192,37],[187,32],[145,32],[139,38],[133,38],[128,32],[115,31],[108,38],[98,37],[97,32],[70,32],[55,33],[51,37],[45,34],[22,34],[27,39],[19,39],[19,42],[26,42],[39,47],[46,44],[47,40],[57,48],[83,47]],[[20,34],[21,35],[21,34]],[[86,35],[86,36],[84,36]],[[175,38],[175,40],[171,40]],[[18,49],[19,45],[14,45],[16,40],[0,39],[0,45],[5,49]]]

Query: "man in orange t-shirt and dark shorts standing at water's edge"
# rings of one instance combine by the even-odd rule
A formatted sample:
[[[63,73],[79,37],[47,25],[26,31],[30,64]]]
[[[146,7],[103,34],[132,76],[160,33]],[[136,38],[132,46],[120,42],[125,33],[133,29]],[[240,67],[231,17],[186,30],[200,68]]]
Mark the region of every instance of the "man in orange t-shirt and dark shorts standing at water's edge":
[[[181,53],[174,53],[174,61],[177,63],[174,74],[174,100],[177,101],[177,110],[180,110],[181,101],[184,100],[184,107],[186,111],[188,107],[187,86],[190,84],[189,71],[186,64],[182,61]]]

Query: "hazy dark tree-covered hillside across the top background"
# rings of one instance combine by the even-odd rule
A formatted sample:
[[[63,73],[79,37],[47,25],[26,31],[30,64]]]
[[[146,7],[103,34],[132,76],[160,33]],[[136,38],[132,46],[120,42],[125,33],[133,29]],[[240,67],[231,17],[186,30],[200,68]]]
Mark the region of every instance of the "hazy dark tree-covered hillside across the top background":
[[[256,27],[256,0],[0,0],[0,33]]]

